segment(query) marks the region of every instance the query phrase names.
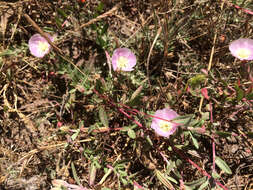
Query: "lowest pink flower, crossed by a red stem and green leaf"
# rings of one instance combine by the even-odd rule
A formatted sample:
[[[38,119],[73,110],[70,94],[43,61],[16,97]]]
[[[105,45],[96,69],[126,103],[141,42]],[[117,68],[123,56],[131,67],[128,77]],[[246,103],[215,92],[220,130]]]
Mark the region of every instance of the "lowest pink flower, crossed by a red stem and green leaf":
[[[180,125],[178,123],[162,120],[172,120],[179,116],[172,109],[164,108],[162,110],[157,110],[154,116],[155,117],[152,119],[151,128],[154,129],[158,135],[168,138],[177,130],[177,127]]]

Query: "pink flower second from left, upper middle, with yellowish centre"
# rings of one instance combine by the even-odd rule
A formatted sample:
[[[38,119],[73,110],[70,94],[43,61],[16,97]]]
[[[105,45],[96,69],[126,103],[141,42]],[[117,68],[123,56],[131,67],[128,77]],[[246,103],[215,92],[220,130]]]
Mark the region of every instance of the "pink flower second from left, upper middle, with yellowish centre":
[[[128,48],[118,48],[112,55],[112,68],[114,71],[132,71],[136,65],[136,57]]]

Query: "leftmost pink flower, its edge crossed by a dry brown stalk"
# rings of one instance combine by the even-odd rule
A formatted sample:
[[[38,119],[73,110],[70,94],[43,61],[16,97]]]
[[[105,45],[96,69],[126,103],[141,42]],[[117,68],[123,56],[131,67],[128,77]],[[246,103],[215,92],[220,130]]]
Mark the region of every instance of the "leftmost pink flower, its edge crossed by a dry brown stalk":
[[[51,41],[53,41],[53,37],[50,36],[49,34],[47,34],[47,35],[48,35],[49,39]],[[39,57],[39,58],[44,57],[46,54],[49,53],[49,51],[51,49],[50,44],[40,34],[34,34],[30,38],[28,45],[29,45],[29,50],[30,50],[31,54],[34,55],[35,57]]]

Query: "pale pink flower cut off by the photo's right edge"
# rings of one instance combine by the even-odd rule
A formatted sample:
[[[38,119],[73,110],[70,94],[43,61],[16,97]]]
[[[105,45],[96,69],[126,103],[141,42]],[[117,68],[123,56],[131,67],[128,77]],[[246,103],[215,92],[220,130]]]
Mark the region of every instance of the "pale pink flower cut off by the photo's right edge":
[[[240,60],[253,60],[253,40],[241,38],[233,41],[229,45],[229,50],[233,56]]]

